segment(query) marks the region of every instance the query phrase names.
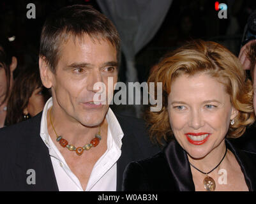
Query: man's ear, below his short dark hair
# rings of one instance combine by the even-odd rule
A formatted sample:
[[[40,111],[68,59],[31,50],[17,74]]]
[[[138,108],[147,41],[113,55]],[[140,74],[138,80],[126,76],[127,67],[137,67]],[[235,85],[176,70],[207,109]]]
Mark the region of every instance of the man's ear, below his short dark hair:
[[[49,64],[46,62],[45,57],[39,57],[40,77],[42,84],[50,89],[52,87],[52,71],[50,71]]]

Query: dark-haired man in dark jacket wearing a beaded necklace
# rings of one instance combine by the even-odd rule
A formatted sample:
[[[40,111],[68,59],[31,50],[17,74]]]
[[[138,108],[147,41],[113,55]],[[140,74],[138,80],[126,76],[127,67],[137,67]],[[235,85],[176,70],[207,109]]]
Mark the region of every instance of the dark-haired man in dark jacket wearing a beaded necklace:
[[[90,6],[47,18],[39,64],[52,98],[33,119],[1,129],[1,190],[118,191],[126,164],[158,151],[143,122],[115,115],[107,103],[119,46],[112,22]],[[107,101],[94,101],[97,82],[110,91]]]

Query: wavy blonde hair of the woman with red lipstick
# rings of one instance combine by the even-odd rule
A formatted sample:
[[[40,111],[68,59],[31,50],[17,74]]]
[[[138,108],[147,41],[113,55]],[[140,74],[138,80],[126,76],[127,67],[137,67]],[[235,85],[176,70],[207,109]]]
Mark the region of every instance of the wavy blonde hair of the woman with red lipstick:
[[[253,124],[252,82],[246,78],[239,59],[218,43],[195,40],[165,55],[158,69],[149,76],[148,83],[154,82],[156,89],[156,83],[162,82],[163,89],[162,110],[151,112],[149,107],[145,114],[153,142],[162,145],[163,140],[169,142],[173,135],[167,112],[172,82],[180,75],[192,76],[197,73],[207,73],[224,84],[232,106],[238,110],[236,123],[229,127],[227,137],[238,138],[243,135],[246,126]],[[155,91],[155,98],[156,94]]]

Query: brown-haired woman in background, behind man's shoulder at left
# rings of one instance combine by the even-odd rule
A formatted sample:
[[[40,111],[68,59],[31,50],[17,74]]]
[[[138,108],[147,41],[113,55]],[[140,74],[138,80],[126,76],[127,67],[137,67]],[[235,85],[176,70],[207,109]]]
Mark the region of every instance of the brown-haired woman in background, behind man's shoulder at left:
[[[50,98],[50,93],[41,84],[39,68],[35,65],[20,72],[14,84],[7,106],[7,126],[34,117],[43,110]]]

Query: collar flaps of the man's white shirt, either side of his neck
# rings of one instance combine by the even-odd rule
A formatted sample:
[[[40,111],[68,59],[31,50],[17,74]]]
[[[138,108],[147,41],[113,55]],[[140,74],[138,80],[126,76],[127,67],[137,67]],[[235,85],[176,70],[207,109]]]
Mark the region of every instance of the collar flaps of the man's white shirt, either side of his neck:
[[[45,145],[50,149],[49,143],[49,133],[47,128],[47,111],[49,108],[52,107],[52,97],[45,103],[43,108],[43,113],[41,117],[41,126],[40,126],[40,136]],[[109,108],[107,115],[106,115],[108,128],[110,130],[110,135],[112,136],[114,142],[116,143],[117,147],[121,149],[122,146],[122,138],[123,138],[123,130],[116,118],[116,115],[112,112],[111,108]]]

